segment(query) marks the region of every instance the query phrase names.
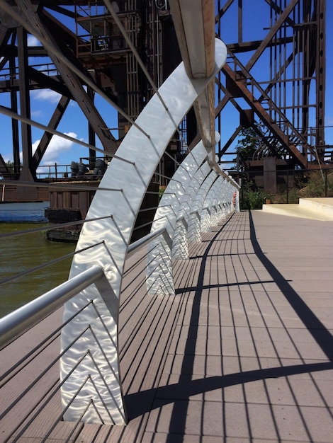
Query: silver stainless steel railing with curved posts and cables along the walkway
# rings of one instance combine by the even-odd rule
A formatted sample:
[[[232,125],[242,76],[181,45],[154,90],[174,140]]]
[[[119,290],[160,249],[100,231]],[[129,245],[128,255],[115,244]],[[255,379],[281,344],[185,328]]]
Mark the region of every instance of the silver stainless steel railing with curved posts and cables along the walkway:
[[[115,18],[111,2],[105,0],[105,3]],[[198,11],[201,11],[201,6],[204,5],[196,3]],[[5,11],[34,35],[35,29],[38,28],[38,17],[27,2],[25,6],[24,11],[28,20],[21,18],[9,4],[4,4]],[[209,7],[213,11],[211,2]],[[196,11],[197,9],[194,10],[193,21],[198,16]],[[209,9],[207,12],[209,13]],[[212,18],[210,23],[214,25],[213,12],[210,15]],[[181,14],[178,16],[182,17]],[[184,23],[184,26],[192,27],[193,21]],[[204,27],[207,23],[200,21],[200,24]],[[131,46],[125,30],[121,26],[119,28]],[[52,289],[28,304],[28,307],[19,309],[3,320],[5,346],[33,325],[35,326],[31,337],[39,342],[40,335],[35,331],[41,328],[43,335],[49,320],[51,325],[53,316],[62,316],[62,320],[57,318],[55,321],[57,326],[54,329],[57,332],[55,335],[51,333],[47,338],[47,346],[45,343],[45,351],[51,355],[45,361],[50,364],[45,366],[42,364],[44,362],[40,362],[43,357],[38,351],[38,343],[29,351],[37,355],[34,361],[31,361],[32,373],[38,368],[39,375],[35,381],[45,382],[47,385],[41,396],[40,393],[35,398],[33,396],[35,389],[33,379],[23,383],[27,359],[24,354],[20,357],[22,369],[19,380],[25,387],[23,393],[10,396],[9,404],[3,405],[0,418],[6,418],[8,422],[13,410],[21,408],[23,397],[28,394],[33,398],[33,404],[23,413],[16,429],[11,433],[14,436],[13,441],[18,441],[28,427],[39,420],[40,415],[45,415],[47,401],[54,399],[57,399],[61,406],[55,408],[59,412],[52,416],[43,441],[57,431],[60,420],[73,422],[74,433],[79,432],[80,422],[126,424],[118,350],[118,317],[126,260],[137,251],[137,248],[149,243],[147,275],[144,266],[145,277],[140,280],[140,285],[147,284],[143,297],[147,294],[152,296],[152,299],[172,296],[174,295],[173,254],[176,259],[176,251],[181,251],[181,257],[186,258],[187,250],[183,246],[190,238],[188,236],[190,226],[193,226],[192,229],[197,234],[193,234],[194,241],[200,241],[201,231],[209,230],[210,226],[217,224],[225,214],[235,210],[232,201],[235,194],[237,195],[239,186],[227,173],[220,170],[215,159],[215,142],[219,136],[215,134],[214,124],[214,84],[215,75],[225,63],[227,50],[220,40],[215,40],[213,28],[209,30],[211,37],[209,45],[205,45],[203,38],[200,39],[200,35],[208,35],[205,29],[202,28],[201,31],[193,36],[192,40],[190,38],[191,41],[186,41],[185,46],[188,51],[186,51],[185,66],[179,65],[158,90],[153,85],[155,95],[134,122],[103,91],[100,91],[91,79],[69,62],[50,39],[45,38],[43,29],[40,28],[38,39],[57,58],[57,61],[62,63],[62,67],[65,66],[67,72],[71,71],[83,79],[86,85],[99,93],[106,103],[113,105],[132,126],[118,147],[117,154],[112,155],[113,159],[101,179],[101,185],[96,189],[94,200],[81,229],[77,251],[73,255],[68,282]],[[206,75],[203,76],[200,69],[200,75],[191,76],[188,75],[188,71],[192,65],[196,67],[198,49],[203,54],[206,52],[209,66],[204,69]],[[141,65],[140,57],[134,48],[132,52]],[[201,62],[205,64],[203,60]],[[148,81],[152,81],[145,68],[142,69]],[[159,203],[151,234],[130,245],[130,237],[137,214],[140,212],[142,198],[157,171],[169,141],[175,133],[182,137],[179,126],[193,103],[203,142],[199,142],[193,151],[189,151],[181,165],[175,160],[176,173]],[[9,115],[8,110],[3,111]],[[13,113],[9,116],[17,120],[23,118]],[[43,125],[36,124],[32,120],[25,119],[24,122],[47,131]],[[56,131],[52,133],[62,136]],[[98,151],[94,146],[83,142],[81,144]],[[237,198],[235,200],[237,202]],[[196,209],[194,223],[191,211],[193,208]],[[62,309],[58,308],[62,304],[64,309],[60,313]],[[51,312],[51,316],[47,316]],[[23,338],[26,339],[27,335],[18,337],[15,343],[7,345],[1,352],[19,350],[20,343],[24,343],[21,341]],[[59,356],[55,357],[55,354]],[[15,359],[13,360],[13,367],[16,367]],[[10,374],[11,371],[12,369],[8,368],[4,373]],[[4,392],[13,388],[11,383],[13,378],[11,375],[8,377],[11,381],[9,384],[4,383]],[[6,378],[7,375],[4,380]]]

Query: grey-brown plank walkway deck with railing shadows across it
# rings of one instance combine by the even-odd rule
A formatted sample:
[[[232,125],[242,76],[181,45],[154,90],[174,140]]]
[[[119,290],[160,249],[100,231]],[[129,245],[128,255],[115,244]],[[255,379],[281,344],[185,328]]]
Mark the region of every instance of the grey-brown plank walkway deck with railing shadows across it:
[[[47,400],[58,364],[43,374],[56,338],[1,381],[1,442],[332,443],[332,244],[332,222],[234,212],[176,260],[164,297],[146,294],[133,255],[119,317],[128,425],[61,420],[59,390]],[[1,372],[60,318],[1,351]]]

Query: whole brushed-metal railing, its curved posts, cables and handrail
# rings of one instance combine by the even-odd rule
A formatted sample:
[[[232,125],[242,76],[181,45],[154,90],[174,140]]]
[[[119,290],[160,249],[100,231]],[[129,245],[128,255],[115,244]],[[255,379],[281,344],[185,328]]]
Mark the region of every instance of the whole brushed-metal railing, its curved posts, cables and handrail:
[[[111,11],[111,2],[105,0],[105,3]],[[149,100],[145,109],[134,122],[103,91],[97,88],[94,82],[91,82],[91,79],[69,62],[56,45],[45,38],[47,33],[45,31],[44,35],[43,25],[39,23],[33,8],[27,2],[25,2],[25,6],[27,6],[25,14],[28,21],[26,21],[26,18],[18,16],[17,12],[9,8],[8,5],[5,11],[18,23],[21,23],[28,32],[35,35],[45,49],[59,59],[67,73],[72,71],[73,74],[83,79],[92,91],[98,93],[101,98],[106,100],[106,103],[113,105],[118,113],[132,124],[120,146],[118,146],[117,155],[110,155],[113,160],[102,178],[101,186],[96,189],[98,192],[96,192],[89,207],[86,221],[94,219],[94,224],[89,226],[83,224],[70,272],[70,275],[74,275],[74,277],[0,321],[1,349],[49,314],[60,309],[64,304],[62,313],[64,324],[60,337],[60,366],[57,367],[57,381],[55,381],[55,383],[61,381],[59,389],[62,398],[62,412],[57,415],[55,425],[52,425],[44,434],[44,439],[48,439],[61,419],[77,423],[98,423],[98,425],[101,422],[108,425],[126,424],[127,417],[125,403],[123,402],[118,352],[118,314],[125,260],[149,243],[147,248],[147,261],[149,263],[147,269],[142,271],[142,274],[145,272],[142,281],[146,284],[147,291],[143,292],[143,297],[140,293],[140,298],[144,300],[145,294],[154,294],[154,296],[172,296],[176,294],[172,272],[172,250],[174,246],[179,249],[183,248],[188,240],[186,238],[187,229],[179,229],[180,235],[176,235],[176,228],[179,227],[176,226],[176,223],[178,221],[179,224],[182,223],[186,227],[190,220],[189,214],[186,214],[186,218],[179,218],[183,200],[190,198],[191,202],[198,204],[198,210],[200,211],[203,209],[205,199],[212,203],[218,200],[217,197],[215,198],[218,192],[215,191],[221,190],[220,183],[222,183],[225,187],[224,190],[221,190],[225,199],[223,201],[226,205],[231,206],[232,194],[234,190],[237,192],[239,186],[232,178],[228,177],[227,173],[220,169],[215,161],[214,148],[210,146],[210,143],[208,143],[209,146],[203,144],[201,146],[200,144],[199,149],[196,149],[198,152],[194,152],[194,149],[189,151],[186,166],[182,164],[177,169],[178,173],[176,171],[172,177],[169,190],[164,192],[162,197],[166,204],[162,204],[161,200],[157,214],[155,214],[152,233],[130,245],[131,233],[135,229],[134,226],[142,205],[142,198],[145,193],[151,193],[147,191],[151,178],[154,172],[157,171],[159,162],[166,151],[166,146],[174,137],[174,133],[179,132],[179,125],[193,103],[197,103],[199,110],[202,111],[202,127],[209,127],[210,132],[213,132],[213,126],[210,123],[213,124],[215,115],[212,112],[206,113],[205,105],[208,104],[210,110],[213,109],[213,100],[210,100],[210,98],[213,98],[213,88],[211,86],[215,75],[218,74],[225,63],[227,49],[222,41],[218,39],[215,40],[215,49],[213,48],[215,33],[212,27],[210,33],[211,45],[209,46],[209,59],[212,69],[209,70],[207,76],[198,79],[189,78],[184,65],[180,64],[162,86],[157,89],[152,85],[155,95]],[[117,22],[115,21],[115,23]],[[40,29],[36,31],[39,24]],[[192,25],[193,23],[191,23]],[[121,26],[118,26],[118,28],[121,28]],[[130,40],[126,38],[126,41],[129,42]],[[193,40],[193,43],[196,43],[196,41]],[[202,40],[200,44],[201,49],[205,52],[205,42]],[[132,52],[136,56],[134,47],[132,47]],[[215,53],[215,60],[213,53]],[[142,66],[140,59],[137,59],[137,63]],[[147,70],[144,69],[144,71],[146,76],[149,77]],[[208,87],[209,93],[207,92]],[[206,96],[206,93],[207,100],[201,100],[201,94]],[[0,110],[3,110],[4,114],[16,120],[21,120],[28,125],[39,127],[53,135],[58,134],[55,130],[49,130],[49,128],[37,122],[26,119],[26,117],[23,119],[23,117],[11,113],[10,110],[4,107],[0,107]],[[162,127],[163,130],[161,130]],[[101,128],[101,130],[103,129],[111,130],[111,128]],[[64,134],[59,135],[64,137]],[[184,141],[184,137],[180,136],[180,138]],[[216,141],[216,137],[211,138],[214,142]],[[77,139],[75,140],[79,142]],[[84,142],[81,142],[81,145],[95,151],[101,151],[101,149]],[[162,174],[160,176],[166,177]],[[222,180],[220,176],[225,180]],[[118,187],[120,183],[122,184],[121,188]],[[55,189],[56,186],[52,185],[52,189]],[[60,187],[65,188],[64,185],[60,185]],[[133,192],[133,189],[135,192]],[[191,192],[188,192],[188,189]],[[196,198],[197,196],[198,198]],[[82,223],[84,222],[82,221]],[[196,224],[195,227],[198,234],[200,234],[201,226]],[[90,249],[91,246],[102,241],[103,247],[98,248],[98,251]],[[80,253],[77,254],[79,251]],[[185,252],[188,253],[188,251]],[[98,263],[99,265],[91,266],[91,263]],[[133,286],[137,285],[135,278],[132,282],[134,282]],[[89,291],[85,291],[84,289],[88,287]],[[145,291],[143,288],[142,290]],[[74,299],[72,299],[73,297]],[[146,298],[146,301],[152,299],[152,297],[150,299],[149,297]],[[93,309],[82,309],[82,305],[90,306],[90,304]],[[8,347],[7,350],[10,351],[11,347]],[[55,359],[52,359],[53,361]],[[46,374],[47,369],[45,369],[43,375]],[[41,379],[41,375],[38,376],[39,379]],[[34,378],[30,382],[24,392],[28,389],[30,391],[30,386],[33,386],[35,380]],[[33,412],[27,424],[23,425],[23,429],[19,430],[18,434],[16,432],[18,428],[14,430],[16,433],[15,439],[21,438],[26,428],[37,417],[41,406],[43,408],[46,404],[48,398],[45,396],[43,398],[45,398],[45,401],[43,400],[42,405],[38,404],[37,410]],[[21,401],[21,391],[18,393],[17,401]],[[10,412],[9,409],[8,411]],[[28,413],[26,417],[28,418]],[[25,417],[23,417],[24,420],[26,420]],[[70,438],[70,436],[67,437],[67,439]]]

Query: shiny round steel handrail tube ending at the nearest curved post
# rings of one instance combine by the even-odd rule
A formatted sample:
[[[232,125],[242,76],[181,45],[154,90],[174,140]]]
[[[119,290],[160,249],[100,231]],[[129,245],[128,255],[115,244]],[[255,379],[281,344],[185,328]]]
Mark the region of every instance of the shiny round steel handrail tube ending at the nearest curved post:
[[[51,289],[28,304],[0,318],[0,350],[59,309],[81,290],[103,277],[103,268],[92,266],[67,282]]]

